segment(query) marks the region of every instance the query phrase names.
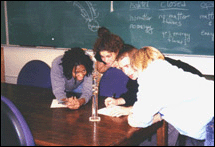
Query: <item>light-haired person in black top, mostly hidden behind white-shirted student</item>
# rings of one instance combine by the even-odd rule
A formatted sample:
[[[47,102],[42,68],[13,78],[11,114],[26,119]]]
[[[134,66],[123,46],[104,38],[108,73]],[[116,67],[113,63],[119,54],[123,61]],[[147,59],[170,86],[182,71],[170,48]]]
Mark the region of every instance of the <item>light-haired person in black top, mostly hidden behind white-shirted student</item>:
[[[117,57],[116,57],[116,61],[118,62],[119,65],[119,69],[121,69],[130,79],[132,79],[133,84],[131,87],[131,90],[129,90],[130,92],[127,92],[126,95],[124,95],[124,99],[126,101],[133,101],[133,103],[136,101],[136,93],[138,91],[138,84],[137,84],[137,73],[134,72],[133,68],[131,67],[130,64],[130,60],[132,59],[132,56],[134,55],[134,53],[136,53],[138,51],[137,48],[135,48],[134,46],[130,45],[130,44],[124,44],[124,47],[122,50],[119,51]],[[203,75],[201,74],[201,72],[199,70],[197,70],[196,68],[194,68],[193,66],[182,62],[180,60],[175,60],[172,59],[170,57],[164,57],[166,61],[168,61],[170,64],[177,66],[178,68],[183,69],[184,71],[199,75],[200,77],[202,77]],[[132,93],[132,94],[130,94]],[[117,102],[115,102],[117,99],[114,98],[108,98],[106,99],[108,100],[108,102],[112,102],[112,105],[116,105]],[[133,104],[132,104],[133,105]],[[108,106],[106,104],[106,106]],[[127,115],[130,108],[131,107],[117,107],[120,108],[120,110],[118,111],[118,109],[115,109],[116,111],[112,112],[113,116],[121,116],[121,115]]]

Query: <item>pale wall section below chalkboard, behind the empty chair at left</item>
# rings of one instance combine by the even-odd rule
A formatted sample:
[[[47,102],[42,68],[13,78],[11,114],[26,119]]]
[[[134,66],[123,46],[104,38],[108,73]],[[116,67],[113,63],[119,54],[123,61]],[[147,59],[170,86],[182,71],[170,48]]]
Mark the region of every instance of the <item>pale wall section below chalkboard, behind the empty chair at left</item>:
[[[5,82],[16,84],[18,74],[27,62],[41,60],[51,67],[52,60],[64,52],[62,49],[4,47]]]

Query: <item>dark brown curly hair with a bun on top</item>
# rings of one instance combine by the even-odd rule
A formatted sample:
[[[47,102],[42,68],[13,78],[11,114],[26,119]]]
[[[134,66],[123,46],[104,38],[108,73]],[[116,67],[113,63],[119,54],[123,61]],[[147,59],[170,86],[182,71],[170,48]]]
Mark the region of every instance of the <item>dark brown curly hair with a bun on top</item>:
[[[107,28],[101,27],[98,29],[98,39],[94,44],[93,52],[97,57],[99,57],[100,51],[118,53],[123,48],[123,45],[122,38],[112,34]]]

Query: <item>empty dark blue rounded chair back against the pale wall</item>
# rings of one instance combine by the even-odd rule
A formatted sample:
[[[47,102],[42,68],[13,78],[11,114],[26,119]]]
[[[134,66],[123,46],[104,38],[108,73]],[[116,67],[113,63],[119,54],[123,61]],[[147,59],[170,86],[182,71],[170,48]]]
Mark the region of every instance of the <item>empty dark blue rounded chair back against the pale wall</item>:
[[[50,70],[45,62],[32,60],[21,69],[17,84],[51,89]]]

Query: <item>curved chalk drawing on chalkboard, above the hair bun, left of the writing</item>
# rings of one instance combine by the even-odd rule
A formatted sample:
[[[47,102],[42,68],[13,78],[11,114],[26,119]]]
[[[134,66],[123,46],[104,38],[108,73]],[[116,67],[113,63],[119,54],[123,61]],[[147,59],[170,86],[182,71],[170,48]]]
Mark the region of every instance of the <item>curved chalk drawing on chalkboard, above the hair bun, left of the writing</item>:
[[[93,5],[89,1],[85,1],[87,4],[90,13],[87,12],[87,10],[77,1],[74,1],[73,6],[77,6],[81,11],[81,16],[86,20],[88,24],[88,29],[90,29],[93,32],[96,32],[99,28],[99,23],[96,20],[98,18],[99,13],[96,12],[96,9],[94,9]]]

